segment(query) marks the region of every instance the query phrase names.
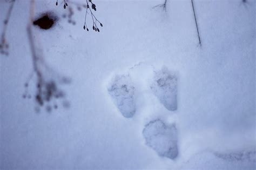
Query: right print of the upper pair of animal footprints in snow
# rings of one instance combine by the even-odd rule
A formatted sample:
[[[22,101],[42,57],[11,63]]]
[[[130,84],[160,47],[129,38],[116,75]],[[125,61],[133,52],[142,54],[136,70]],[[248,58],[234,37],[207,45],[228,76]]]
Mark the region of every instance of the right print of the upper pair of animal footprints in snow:
[[[177,110],[177,77],[169,70],[156,72],[151,90],[167,110]]]

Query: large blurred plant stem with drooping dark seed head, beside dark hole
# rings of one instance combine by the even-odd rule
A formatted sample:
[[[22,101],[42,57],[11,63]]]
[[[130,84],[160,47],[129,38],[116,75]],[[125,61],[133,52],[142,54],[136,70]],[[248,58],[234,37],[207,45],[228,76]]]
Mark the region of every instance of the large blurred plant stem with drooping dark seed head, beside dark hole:
[[[58,89],[57,81],[60,81],[61,83],[66,84],[66,83],[69,83],[69,79],[60,77],[58,74],[56,74],[56,72],[54,72],[45,63],[43,56],[39,54],[38,49],[36,47],[36,44],[38,44],[38,42],[37,43],[35,42],[36,37],[33,34],[33,30],[32,30],[34,16],[35,16],[35,0],[30,0],[29,22],[26,30],[28,32],[33,71],[35,71],[36,78],[37,78],[37,83],[36,83],[37,92],[35,95],[35,100],[38,106],[43,106],[44,103],[46,103],[46,106],[45,106],[46,111],[50,112],[52,108],[56,109],[58,107],[56,102],[57,98],[64,98],[64,92]],[[50,77],[47,77],[46,71],[48,71]],[[33,75],[33,73],[31,75]],[[23,98],[31,98],[31,95],[28,94],[28,86],[31,78],[32,76],[30,76],[28,82],[25,83],[25,93],[23,94]],[[51,101],[53,102],[53,105],[50,104]],[[67,103],[67,101],[65,101],[65,103]],[[39,110],[39,107],[37,108],[37,110]]]

